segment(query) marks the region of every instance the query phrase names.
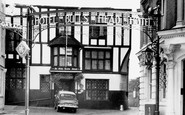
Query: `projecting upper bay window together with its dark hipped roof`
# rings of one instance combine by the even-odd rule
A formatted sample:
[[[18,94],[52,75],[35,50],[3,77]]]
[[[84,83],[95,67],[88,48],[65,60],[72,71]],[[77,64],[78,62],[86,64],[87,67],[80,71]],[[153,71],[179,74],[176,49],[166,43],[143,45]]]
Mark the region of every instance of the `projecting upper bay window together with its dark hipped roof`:
[[[55,68],[78,68],[81,43],[71,36],[57,36],[50,41],[51,64]]]

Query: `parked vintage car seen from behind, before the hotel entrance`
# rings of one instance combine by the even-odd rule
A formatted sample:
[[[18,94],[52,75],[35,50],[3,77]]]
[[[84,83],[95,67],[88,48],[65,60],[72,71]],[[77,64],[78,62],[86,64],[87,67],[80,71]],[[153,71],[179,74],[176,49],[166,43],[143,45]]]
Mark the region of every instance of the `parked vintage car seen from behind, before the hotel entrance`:
[[[78,100],[76,94],[72,91],[59,90],[55,94],[54,108],[59,112],[60,110],[71,110],[76,113],[78,109]]]

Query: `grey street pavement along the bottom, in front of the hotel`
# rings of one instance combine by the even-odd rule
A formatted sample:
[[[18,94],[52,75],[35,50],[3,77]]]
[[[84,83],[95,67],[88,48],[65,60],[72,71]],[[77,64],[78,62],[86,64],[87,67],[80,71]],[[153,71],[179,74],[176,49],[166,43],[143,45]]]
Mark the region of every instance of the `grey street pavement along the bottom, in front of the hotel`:
[[[30,115],[59,115],[51,107],[29,107]],[[68,115],[69,113],[65,113]],[[138,107],[130,107],[127,110],[95,110],[95,109],[79,109],[77,115],[139,115]],[[5,105],[4,110],[0,110],[0,115],[25,115],[24,106]]]

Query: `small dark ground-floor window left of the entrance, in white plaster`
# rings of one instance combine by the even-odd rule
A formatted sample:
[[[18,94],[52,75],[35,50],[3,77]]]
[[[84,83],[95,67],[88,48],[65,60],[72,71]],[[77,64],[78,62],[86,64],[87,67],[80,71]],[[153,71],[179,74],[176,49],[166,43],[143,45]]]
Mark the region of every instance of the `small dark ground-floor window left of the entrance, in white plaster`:
[[[50,75],[40,75],[40,91],[50,92]]]

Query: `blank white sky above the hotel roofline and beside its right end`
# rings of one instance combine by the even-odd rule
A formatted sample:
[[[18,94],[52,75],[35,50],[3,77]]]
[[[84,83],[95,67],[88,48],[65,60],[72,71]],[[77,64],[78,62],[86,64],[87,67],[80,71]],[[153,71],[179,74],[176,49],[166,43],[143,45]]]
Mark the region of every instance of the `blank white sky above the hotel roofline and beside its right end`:
[[[52,6],[74,6],[74,7],[111,7],[121,9],[140,8],[140,0],[5,0],[7,4],[19,3],[26,5],[52,5]],[[129,80],[139,77],[139,60],[136,53],[139,51],[140,32],[132,31],[132,49],[129,64]]]

